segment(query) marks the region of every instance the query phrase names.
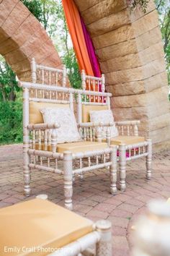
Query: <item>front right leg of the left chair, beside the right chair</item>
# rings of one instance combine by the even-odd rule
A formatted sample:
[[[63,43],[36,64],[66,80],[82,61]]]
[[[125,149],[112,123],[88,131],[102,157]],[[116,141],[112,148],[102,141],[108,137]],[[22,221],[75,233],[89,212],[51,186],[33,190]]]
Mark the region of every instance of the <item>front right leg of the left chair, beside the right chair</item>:
[[[110,174],[110,193],[116,195],[117,193],[117,146],[110,146],[112,148],[112,153],[110,154],[110,161],[112,165],[109,167]]]

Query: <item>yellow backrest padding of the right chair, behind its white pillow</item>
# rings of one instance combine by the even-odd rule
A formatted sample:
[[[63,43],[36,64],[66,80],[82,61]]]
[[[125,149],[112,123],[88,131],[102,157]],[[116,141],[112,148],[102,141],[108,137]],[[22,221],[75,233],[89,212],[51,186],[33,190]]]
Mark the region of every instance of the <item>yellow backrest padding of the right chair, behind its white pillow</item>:
[[[84,105],[82,104],[82,122],[87,123],[90,121],[89,111],[100,111],[100,110],[107,110],[108,106],[97,106],[97,105]]]

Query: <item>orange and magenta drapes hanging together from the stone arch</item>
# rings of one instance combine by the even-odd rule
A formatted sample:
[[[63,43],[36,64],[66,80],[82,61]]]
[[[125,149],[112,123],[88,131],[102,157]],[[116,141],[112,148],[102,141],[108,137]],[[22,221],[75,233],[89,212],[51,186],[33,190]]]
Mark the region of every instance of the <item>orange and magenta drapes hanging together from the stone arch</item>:
[[[101,77],[99,62],[94,51],[92,40],[76,4],[73,0],[62,1],[68,30],[71,35],[80,71],[84,69],[88,75]]]

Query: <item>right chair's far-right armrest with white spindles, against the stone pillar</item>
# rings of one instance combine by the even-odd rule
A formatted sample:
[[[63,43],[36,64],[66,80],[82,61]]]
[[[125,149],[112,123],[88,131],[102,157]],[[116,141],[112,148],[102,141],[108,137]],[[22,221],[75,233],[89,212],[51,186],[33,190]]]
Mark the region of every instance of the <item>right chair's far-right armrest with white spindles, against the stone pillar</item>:
[[[115,125],[120,135],[138,136],[138,125],[140,120],[115,121]]]

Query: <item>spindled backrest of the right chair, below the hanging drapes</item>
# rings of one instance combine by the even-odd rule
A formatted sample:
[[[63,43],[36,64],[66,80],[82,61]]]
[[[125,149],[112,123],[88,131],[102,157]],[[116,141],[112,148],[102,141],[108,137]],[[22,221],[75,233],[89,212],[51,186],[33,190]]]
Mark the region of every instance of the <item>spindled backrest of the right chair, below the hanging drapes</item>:
[[[90,90],[91,94],[86,97],[79,99],[78,102],[78,119],[79,123],[89,122],[89,111],[100,111],[110,109],[110,97],[111,94],[105,96],[105,76],[92,77],[86,75],[85,71],[81,72],[82,88],[83,90]],[[94,93],[92,93],[94,92]],[[94,95],[95,92],[100,95]]]

